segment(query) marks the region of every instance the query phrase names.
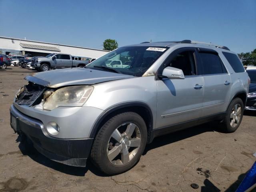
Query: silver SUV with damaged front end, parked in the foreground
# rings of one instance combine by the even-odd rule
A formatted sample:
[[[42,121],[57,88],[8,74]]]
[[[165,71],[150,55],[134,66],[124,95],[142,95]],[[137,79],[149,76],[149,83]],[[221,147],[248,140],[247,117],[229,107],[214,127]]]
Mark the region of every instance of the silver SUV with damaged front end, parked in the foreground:
[[[156,136],[212,120],[234,132],[250,83],[234,52],[190,40],[124,46],[25,79],[10,107],[14,131],[51,160],[90,157],[110,175],[132,168]]]

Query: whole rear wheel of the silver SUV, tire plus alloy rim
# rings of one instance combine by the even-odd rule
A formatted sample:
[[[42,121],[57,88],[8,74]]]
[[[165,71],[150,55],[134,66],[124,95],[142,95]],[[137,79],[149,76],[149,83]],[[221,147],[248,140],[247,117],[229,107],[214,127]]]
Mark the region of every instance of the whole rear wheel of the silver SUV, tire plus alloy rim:
[[[227,133],[235,132],[242,122],[243,114],[243,101],[240,98],[234,98],[228,106],[226,116],[222,122],[222,130]]]

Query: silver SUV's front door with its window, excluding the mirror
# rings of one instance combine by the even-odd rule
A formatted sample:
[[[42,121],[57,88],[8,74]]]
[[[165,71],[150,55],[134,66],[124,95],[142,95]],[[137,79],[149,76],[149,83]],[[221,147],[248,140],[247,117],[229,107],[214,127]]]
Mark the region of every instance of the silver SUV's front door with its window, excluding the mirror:
[[[172,54],[164,67],[182,69],[185,79],[157,80],[156,128],[195,120],[202,116],[204,79],[198,76],[194,48],[181,48]]]

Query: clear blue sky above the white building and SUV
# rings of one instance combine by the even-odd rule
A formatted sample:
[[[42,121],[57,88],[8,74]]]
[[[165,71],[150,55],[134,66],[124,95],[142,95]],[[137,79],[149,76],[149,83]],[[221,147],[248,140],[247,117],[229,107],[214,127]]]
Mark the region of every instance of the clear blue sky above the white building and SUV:
[[[0,36],[102,48],[198,40],[256,48],[256,0],[0,0]]]

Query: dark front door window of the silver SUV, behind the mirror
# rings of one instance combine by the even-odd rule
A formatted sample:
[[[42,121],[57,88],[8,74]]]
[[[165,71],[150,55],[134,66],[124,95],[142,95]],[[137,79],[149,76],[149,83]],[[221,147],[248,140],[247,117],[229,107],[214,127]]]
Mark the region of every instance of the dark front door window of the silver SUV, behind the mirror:
[[[174,57],[166,67],[181,69],[184,75],[196,75],[196,65],[193,51],[184,51]]]

